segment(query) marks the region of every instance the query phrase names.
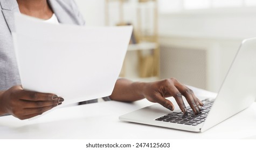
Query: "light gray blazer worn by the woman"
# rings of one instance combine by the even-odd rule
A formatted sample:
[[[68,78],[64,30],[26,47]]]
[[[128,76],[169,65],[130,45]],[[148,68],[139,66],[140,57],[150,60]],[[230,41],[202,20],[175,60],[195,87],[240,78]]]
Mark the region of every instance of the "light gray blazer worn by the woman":
[[[85,25],[73,0],[48,0],[60,23]],[[0,91],[20,85],[20,78],[12,43],[15,32],[13,14],[19,12],[16,0],[0,0]]]

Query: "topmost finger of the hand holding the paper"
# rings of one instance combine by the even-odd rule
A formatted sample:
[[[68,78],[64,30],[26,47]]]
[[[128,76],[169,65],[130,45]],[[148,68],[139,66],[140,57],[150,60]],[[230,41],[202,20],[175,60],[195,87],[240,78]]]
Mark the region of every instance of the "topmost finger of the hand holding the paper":
[[[50,93],[39,93],[31,91],[18,91],[18,98],[22,100],[31,100],[31,101],[52,101],[57,100],[58,96]]]

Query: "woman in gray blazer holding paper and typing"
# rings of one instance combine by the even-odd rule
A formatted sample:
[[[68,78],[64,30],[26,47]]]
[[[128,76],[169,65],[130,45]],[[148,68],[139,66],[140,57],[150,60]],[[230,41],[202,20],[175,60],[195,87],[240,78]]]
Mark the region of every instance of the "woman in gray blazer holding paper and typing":
[[[15,32],[13,13],[20,12],[56,24],[85,25],[73,0],[2,0],[0,1],[0,115],[11,114],[19,119],[31,118],[61,104],[64,99],[51,93],[23,90],[13,49],[11,32]],[[193,92],[175,78],[152,83],[118,79],[108,99],[132,102],[148,99],[174,110],[165,97],[174,96],[179,108],[187,113],[182,95],[194,112],[200,111],[202,102]]]

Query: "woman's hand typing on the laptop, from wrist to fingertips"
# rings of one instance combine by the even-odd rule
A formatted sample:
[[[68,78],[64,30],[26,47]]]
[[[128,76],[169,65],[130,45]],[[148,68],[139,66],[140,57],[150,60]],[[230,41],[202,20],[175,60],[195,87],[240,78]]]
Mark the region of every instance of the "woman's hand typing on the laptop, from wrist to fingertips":
[[[196,114],[200,112],[199,106],[203,106],[203,103],[195,96],[193,91],[179,83],[175,78],[144,83],[142,93],[149,101],[160,103],[163,107],[170,110],[174,110],[174,105],[165,97],[173,96],[184,114],[188,114],[188,111],[186,110],[182,95]]]

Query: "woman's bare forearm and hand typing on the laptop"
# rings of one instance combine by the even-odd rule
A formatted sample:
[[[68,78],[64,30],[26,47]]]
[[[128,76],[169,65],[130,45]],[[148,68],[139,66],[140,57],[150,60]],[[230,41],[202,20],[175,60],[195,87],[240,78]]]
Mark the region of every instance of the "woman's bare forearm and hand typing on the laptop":
[[[182,95],[186,98],[195,113],[200,112],[203,103],[197,99],[191,89],[179,83],[175,78],[159,80],[151,83],[132,82],[127,79],[116,81],[110,99],[133,102],[146,98],[150,102],[160,103],[163,107],[174,110],[174,105],[165,97],[173,96],[184,114],[187,114]]]

